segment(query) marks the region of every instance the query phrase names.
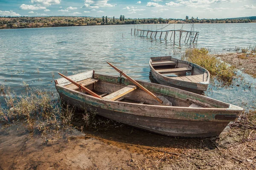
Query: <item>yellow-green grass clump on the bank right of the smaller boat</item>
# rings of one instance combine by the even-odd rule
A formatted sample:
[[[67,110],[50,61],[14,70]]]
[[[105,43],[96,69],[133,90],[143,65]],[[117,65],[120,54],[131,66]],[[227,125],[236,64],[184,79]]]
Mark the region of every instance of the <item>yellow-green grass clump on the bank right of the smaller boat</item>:
[[[225,85],[231,85],[237,76],[236,68],[230,67],[225,62],[221,62],[218,58],[210,55],[206,48],[189,48],[185,51],[182,59],[206,68],[211,76],[216,77]]]

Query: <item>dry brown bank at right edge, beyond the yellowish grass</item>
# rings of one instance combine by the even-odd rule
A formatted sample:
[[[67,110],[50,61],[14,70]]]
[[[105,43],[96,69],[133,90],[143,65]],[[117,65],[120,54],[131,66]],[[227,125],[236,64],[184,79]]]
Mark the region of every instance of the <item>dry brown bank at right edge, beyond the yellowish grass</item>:
[[[256,78],[256,54],[227,53],[215,54],[215,56]]]

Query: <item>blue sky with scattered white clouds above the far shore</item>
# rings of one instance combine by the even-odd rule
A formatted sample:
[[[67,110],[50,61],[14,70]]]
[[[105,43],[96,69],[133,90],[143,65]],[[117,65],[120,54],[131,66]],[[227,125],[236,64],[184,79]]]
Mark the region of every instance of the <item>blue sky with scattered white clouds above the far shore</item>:
[[[0,16],[229,18],[256,16],[256,0],[0,0]]]

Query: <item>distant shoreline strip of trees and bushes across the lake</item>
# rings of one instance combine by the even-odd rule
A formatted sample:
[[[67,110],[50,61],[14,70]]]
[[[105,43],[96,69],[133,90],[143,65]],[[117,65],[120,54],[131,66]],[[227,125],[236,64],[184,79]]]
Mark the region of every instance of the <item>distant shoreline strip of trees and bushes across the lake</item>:
[[[0,29],[11,28],[42,28],[63,26],[95,26],[125,24],[171,24],[171,23],[256,23],[256,17],[240,17],[227,19],[163,19],[138,18],[130,19],[121,15],[119,18],[99,17],[0,17]]]

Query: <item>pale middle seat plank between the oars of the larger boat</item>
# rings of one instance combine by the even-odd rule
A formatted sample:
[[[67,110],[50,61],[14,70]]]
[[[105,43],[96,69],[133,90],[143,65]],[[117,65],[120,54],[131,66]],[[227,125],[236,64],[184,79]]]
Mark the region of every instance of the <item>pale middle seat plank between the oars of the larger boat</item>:
[[[103,97],[103,99],[114,101],[116,99],[119,99],[120,97],[124,96],[125,94],[130,93],[131,91],[134,91],[137,88],[136,85],[128,85],[125,88],[122,88],[118,91],[115,91],[108,96]]]

